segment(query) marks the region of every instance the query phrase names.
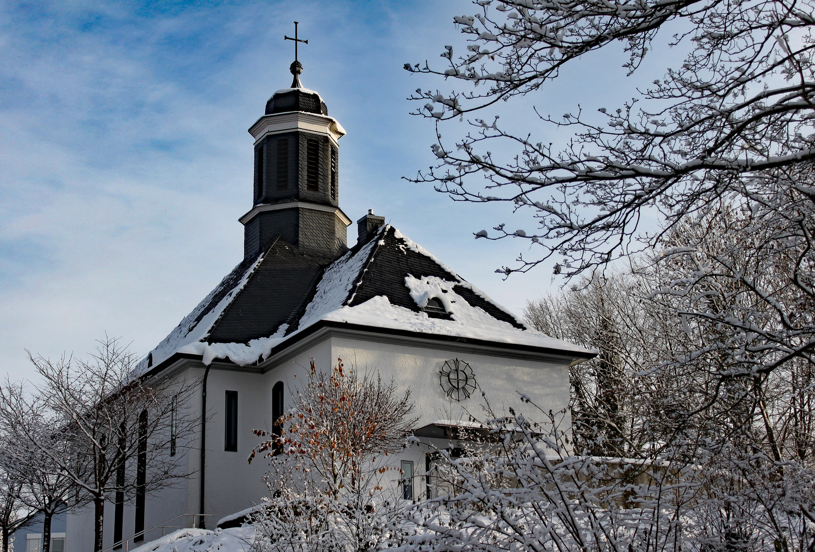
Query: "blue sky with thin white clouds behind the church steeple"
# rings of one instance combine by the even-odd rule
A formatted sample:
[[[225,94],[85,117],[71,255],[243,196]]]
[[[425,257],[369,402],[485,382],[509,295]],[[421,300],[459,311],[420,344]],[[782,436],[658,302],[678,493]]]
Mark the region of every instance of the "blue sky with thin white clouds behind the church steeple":
[[[433,126],[409,115],[406,98],[445,86],[402,66],[459,44],[452,16],[463,13],[474,7],[457,0],[2,2],[0,374],[29,377],[25,349],[85,355],[105,332],[144,354],[240,261],[247,129],[289,86],[293,20],[309,39],[302,82],[348,132],[346,214],[384,215],[514,311],[557,287],[549,267],[506,282],[494,272],[526,242],[474,240],[514,227],[509,206],[453,203],[402,179],[434,160]],[[625,57],[575,65],[502,120],[522,127],[532,105],[619,104],[636,84]],[[637,82],[662,76],[655,61]]]

